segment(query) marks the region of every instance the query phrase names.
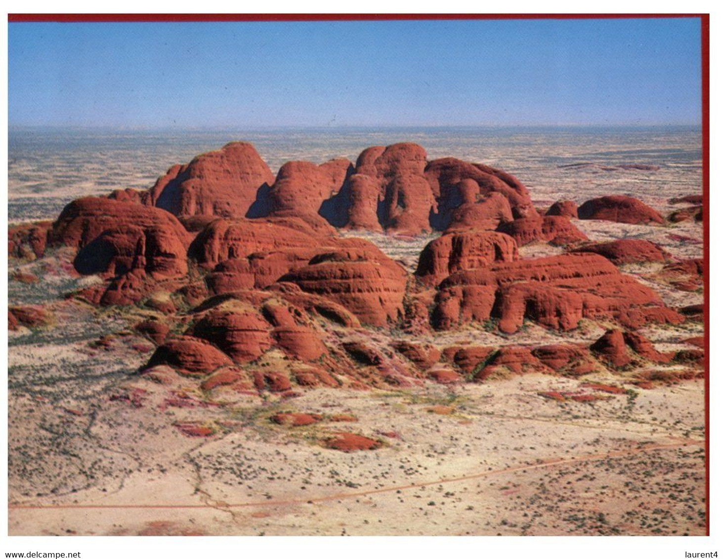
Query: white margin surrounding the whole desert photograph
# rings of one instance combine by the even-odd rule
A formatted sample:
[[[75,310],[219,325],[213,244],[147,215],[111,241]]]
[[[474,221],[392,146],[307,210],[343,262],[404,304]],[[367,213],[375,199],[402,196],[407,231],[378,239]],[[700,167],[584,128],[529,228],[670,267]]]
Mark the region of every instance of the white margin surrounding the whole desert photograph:
[[[258,6],[258,5],[257,5]],[[711,216],[722,215],[722,196],[716,188],[723,188],[721,173],[717,172],[716,131],[721,129],[719,113],[716,110],[715,95],[719,88],[719,61],[721,60],[722,40],[716,36],[715,4],[706,2],[673,3],[666,1],[608,1],[605,3],[581,4],[579,1],[552,1],[544,4],[531,1],[515,4],[483,5],[472,1],[448,0],[444,3],[419,1],[399,2],[390,0],[371,0],[363,4],[341,4],[331,1],[314,1],[304,4],[291,1],[264,3],[262,9],[244,6],[231,1],[206,1],[202,4],[179,5],[176,1],[127,0],[122,3],[103,3],[69,0],[62,4],[50,1],[28,2],[10,1],[7,4],[9,13],[234,13],[245,10],[248,13],[710,13],[711,14]],[[718,10],[719,13],[723,13]],[[7,15],[7,14],[6,14]],[[7,169],[7,25],[2,27],[0,40],[4,71],[2,79],[3,105],[5,110],[0,118],[4,128],[1,154],[4,169]],[[7,207],[7,173],[3,178],[4,188],[0,189],[5,207]],[[7,214],[6,214],[7,216]],[[719,270],[723,266],[721,255],[716,247],[723,246],[723,233],[715,220],[711,220],[711,287],[716,285]],[[3,222],[7,229],[7,217]],[[4,249],[5,250],[5,249]],[[3,283],[0,289],[7,306],[7,253],[0,259],[4,273],[0,274]],[[711,289],[711,317],[723,316],[721,298],[716,290]],[[714,348],[718,345],[719,324],[711,320],[711,537],[599,537],[591,541],[589,537],[357,537],[352,539],[340,537],[76,537],[51,539],[48,537],[8,537],[7,508],[0,506],[0,558],[9,551],[81,551],[83,559],[88,558],[127,558],[134,555],[139,558],[174,557],[174,558],[208,558],[214,555],[230,558],[247,558],[259,554],[279,553],[292,559],[317,559],[320,557],[454,557],[464,558],[523,558],[536,559],[584,557],[586,559],[612,557],[661,557],[684,558],[685,552],[718,551],[723,559],[722,519],[720,512],[723,507],[721,484],[716,476],[718,472],[719,449],[721,445],[721,420],[716,412],[717,402],[721,402],[723,394],[719,389],[719,378],[723,374],[723,361]],[[7,332],[3,334],[1,350],[4,352],[4,381],[0,383],[0,402],[7,417]],[[0,464],[3,467],[4,482],[0,484],[0,503],[7,503],[7,422],[1,430]],[[340,555],[343,554],[343,555]],[[263,556],[263,555],[262,555]]]

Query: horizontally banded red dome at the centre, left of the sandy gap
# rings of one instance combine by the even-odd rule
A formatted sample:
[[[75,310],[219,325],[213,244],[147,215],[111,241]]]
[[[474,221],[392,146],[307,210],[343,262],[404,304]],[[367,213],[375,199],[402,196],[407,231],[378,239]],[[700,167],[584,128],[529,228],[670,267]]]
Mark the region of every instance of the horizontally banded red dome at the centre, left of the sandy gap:
[[[403,268],[369,243],[319,254],[280,281],[324,295],[348,308],[362,324],[387,326],[403,317],[406,280]]]

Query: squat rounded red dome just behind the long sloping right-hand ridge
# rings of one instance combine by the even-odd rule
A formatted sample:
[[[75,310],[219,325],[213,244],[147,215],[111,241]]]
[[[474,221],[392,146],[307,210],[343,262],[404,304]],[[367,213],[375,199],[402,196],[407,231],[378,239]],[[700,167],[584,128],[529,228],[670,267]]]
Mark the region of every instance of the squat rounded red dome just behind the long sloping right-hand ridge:
[[[492,262],[510,262],[517,257],[517,243],[509,235],[493,231],[448,233],[424,247],[416,275],[436,285],[455,272],[484,268]]]

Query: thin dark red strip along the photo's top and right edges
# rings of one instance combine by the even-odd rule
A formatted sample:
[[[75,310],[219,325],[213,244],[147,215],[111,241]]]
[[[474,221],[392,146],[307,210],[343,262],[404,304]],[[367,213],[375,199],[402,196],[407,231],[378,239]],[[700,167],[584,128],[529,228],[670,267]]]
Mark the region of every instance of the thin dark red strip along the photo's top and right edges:
[[[710,14],[8,14],[12,22],[307,22],[403,20],[701,20],[701,133],[703,148],[703,325],[705,328],[706,535],[711,535],[710,495]]]

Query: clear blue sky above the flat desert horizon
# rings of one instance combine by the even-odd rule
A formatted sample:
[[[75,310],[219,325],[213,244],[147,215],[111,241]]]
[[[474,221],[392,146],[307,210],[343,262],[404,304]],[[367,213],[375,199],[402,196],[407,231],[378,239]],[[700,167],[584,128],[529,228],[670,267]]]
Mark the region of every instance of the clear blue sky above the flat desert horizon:
[[[9,124],[701,120],[700,21],[10,23]]]

